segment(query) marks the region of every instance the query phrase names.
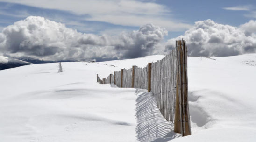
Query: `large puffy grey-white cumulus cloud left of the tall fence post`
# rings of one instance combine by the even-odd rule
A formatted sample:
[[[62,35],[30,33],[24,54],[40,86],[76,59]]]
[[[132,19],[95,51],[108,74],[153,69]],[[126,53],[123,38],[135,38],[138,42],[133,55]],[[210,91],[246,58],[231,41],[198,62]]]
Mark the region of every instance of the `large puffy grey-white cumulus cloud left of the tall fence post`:
[[[0,49],[9,57],[70,59],[121,59],[151,55],[168,34],[153,24],[118,36],[83,34],[64,24],[29,16],[0,33]]]

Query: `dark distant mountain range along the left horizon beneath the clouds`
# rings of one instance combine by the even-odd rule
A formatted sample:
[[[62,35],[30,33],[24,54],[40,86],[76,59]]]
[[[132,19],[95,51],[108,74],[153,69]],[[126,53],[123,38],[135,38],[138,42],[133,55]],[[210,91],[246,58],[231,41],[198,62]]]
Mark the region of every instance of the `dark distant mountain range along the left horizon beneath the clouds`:
[[[28,64],[43,64],[43,63],[57,63],[57,62],[95,62],[95,60],[45,60],[45,59],[15,59],[0,56],[0,70],[15,68]]]

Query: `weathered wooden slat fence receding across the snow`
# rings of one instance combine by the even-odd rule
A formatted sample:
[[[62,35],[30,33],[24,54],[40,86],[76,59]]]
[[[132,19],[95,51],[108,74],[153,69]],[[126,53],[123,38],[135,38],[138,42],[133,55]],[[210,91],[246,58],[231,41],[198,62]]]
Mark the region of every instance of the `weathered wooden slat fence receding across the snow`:
[[[147,89],[156,99],[157,107],[167,121],[174,123],[174,132],[191,135],[188,105],[187,46],[176,41],[176,49],[162,60],[149,63],[145,68],[132,66],[121,69],[102,80],[100,84],[114,83],[121,88]]]

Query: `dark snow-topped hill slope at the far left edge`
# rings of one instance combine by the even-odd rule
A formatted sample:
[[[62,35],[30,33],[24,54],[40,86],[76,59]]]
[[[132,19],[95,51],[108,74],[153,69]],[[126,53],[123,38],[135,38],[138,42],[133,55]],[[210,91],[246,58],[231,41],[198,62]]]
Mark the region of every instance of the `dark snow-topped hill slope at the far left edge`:
[[[0,70],[15,68],[23,65],[32,64],[14,58],[0,56]]]

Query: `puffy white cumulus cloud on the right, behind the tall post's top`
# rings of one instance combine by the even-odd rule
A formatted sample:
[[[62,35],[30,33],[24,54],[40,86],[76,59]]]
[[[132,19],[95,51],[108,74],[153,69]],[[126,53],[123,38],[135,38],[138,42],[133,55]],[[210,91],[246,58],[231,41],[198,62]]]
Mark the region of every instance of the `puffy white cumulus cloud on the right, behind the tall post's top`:
[[[175,41],[182,38],[188,45],[190,56],[235,56],[256,52],[256,21],[249,21],[239,28],[217,24],[214,21],[197,21],[183,36],[165,43],[165,52],[175,48]]]

